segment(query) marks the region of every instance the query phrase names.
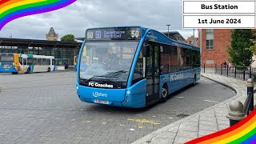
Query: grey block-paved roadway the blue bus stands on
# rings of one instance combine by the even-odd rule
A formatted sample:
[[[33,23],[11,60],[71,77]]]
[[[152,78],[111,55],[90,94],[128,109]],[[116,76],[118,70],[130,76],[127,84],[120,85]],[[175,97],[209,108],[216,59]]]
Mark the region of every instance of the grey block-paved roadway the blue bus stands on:
[[[80,102],[76,74],[0,74],[0,143],[131,143],[234,92],[202,78],[146,109]]]

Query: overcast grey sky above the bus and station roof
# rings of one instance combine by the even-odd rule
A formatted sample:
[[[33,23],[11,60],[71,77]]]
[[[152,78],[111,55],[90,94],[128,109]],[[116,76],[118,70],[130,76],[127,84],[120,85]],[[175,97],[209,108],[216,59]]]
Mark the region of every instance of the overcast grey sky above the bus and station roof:
[[[102,26],[146,26],[163,31],[166,24],[184,38],[193,34],[193,30],[182,29],[182,0],[77,0],[61,10],[18,18],[2,28],[0,37],[46,39],[50,27],[58,39],[65,34],[84,37],[87,28]]]

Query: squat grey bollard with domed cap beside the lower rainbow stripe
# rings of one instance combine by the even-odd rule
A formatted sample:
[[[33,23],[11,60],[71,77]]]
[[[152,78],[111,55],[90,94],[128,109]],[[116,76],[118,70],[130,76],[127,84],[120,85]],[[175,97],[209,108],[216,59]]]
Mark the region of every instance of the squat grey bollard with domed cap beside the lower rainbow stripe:
[[[226,118],[230,119],[230,126],[234,126],[236,123],[240,122],[245,117],[246,114],[243,110],[242,102],[230,102],[230,110],[229,113],[226,115]]]

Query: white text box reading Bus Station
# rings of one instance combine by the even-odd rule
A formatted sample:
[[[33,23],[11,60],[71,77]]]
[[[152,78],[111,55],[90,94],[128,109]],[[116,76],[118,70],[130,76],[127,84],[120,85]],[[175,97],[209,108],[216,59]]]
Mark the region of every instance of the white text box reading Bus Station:
[[[229,8],[229,9],[226,9],[226,8]],[[187,1],[184,1],[183,13],[184,14],[254,14],[255,2],[241,2],[241,1],[240,2],[238,1],[187,2]]]

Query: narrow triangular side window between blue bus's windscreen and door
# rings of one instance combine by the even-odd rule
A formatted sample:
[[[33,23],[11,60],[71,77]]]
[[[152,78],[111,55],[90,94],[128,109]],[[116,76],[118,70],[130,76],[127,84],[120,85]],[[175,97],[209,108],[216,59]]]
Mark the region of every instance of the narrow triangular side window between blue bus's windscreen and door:
[[[134,77],[133,77],[133,82],[132,85],[134,85],[134,83],[141,81],[144,77],[143,77],[143,55],[142,55],[142,50],[139,53],[138,56],[138,61],[136,63],[136,67],[134,70]]]

